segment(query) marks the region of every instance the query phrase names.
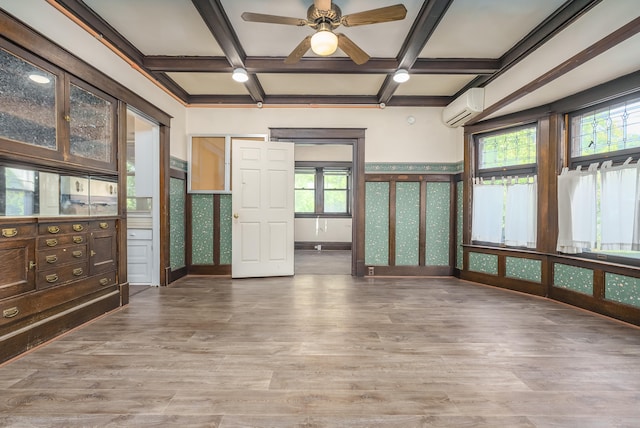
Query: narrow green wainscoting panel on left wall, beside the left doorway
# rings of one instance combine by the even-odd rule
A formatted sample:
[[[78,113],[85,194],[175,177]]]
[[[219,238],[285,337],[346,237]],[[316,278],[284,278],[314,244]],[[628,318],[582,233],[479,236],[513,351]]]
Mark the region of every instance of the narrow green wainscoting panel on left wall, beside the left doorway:
[[[171,270],[186,266],[185,260],[185,218],[184,207],[187,198],[185,180],[171,177],[169,179],[169,264]]]

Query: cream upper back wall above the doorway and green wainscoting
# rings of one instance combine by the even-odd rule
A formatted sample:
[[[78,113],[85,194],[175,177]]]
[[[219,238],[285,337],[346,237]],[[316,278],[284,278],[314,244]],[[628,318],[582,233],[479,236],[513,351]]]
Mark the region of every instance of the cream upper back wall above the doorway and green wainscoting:
[[[190,108],[189,134],[268,134],[269,128],[366,128],[365,162],[460,162],[462,128],[442,123],[439,107]],[[410,125],[409,116],[416,121]],[[186,159],[186,147],[175,148]],[[184,157],[182,157],[184,156]]]

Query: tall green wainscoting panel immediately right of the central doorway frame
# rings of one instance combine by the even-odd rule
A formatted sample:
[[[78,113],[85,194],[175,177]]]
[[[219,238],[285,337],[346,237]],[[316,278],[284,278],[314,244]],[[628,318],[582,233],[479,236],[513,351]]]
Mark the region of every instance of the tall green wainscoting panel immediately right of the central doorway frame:
[[[389,265],[389,183],[365,183],[364,263]]]

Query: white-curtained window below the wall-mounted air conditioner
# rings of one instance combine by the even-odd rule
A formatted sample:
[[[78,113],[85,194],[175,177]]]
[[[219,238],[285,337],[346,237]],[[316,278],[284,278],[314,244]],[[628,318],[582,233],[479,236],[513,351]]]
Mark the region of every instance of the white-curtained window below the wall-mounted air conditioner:
[[[536,126],[479,134],[475,145],[472,241],[535,248]]]

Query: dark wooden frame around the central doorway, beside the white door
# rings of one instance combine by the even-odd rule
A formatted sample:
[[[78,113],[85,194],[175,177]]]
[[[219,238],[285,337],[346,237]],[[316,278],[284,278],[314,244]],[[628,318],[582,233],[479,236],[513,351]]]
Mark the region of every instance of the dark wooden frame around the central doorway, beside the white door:
[[[366,128],[269,128],[271,141],[304,144],[348,144],[353,148],[351,275],[364,276],[364,144]]]

